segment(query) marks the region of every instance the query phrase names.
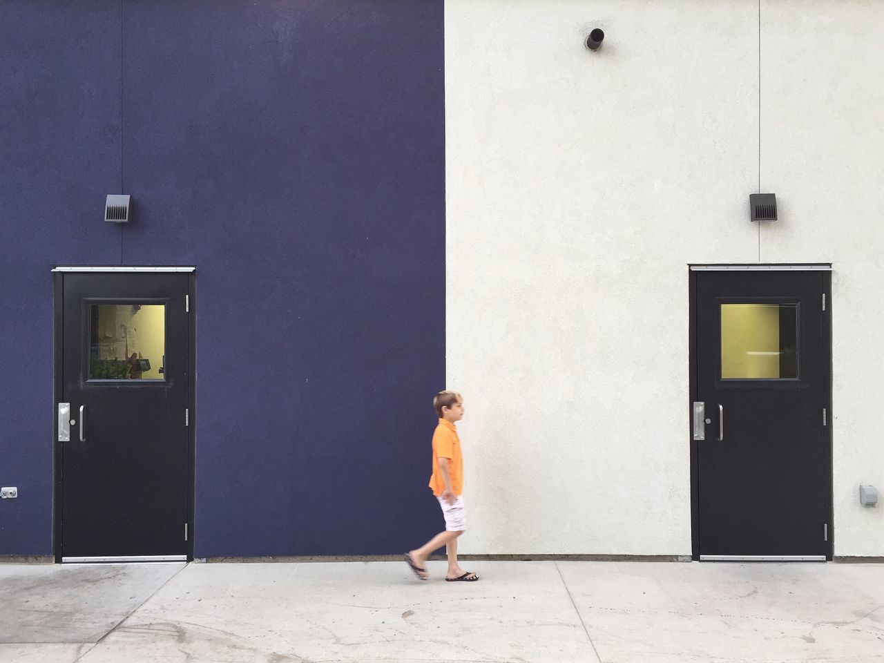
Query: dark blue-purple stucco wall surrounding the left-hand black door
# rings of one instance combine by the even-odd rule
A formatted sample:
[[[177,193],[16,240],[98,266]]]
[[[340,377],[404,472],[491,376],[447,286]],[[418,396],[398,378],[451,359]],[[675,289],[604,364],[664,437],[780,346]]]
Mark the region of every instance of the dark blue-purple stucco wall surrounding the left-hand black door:
[[[51,552],[53,263],[197,267],[196,556],[423,542],[442,0],[109,6],[0,3],[0,554]]]

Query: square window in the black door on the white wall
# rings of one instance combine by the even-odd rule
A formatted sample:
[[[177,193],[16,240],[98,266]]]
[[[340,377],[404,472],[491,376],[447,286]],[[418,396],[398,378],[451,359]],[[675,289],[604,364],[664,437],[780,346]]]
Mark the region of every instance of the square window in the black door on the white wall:
[[[721,379],[796,379],[797,318],[797,304],[721,304]]]

